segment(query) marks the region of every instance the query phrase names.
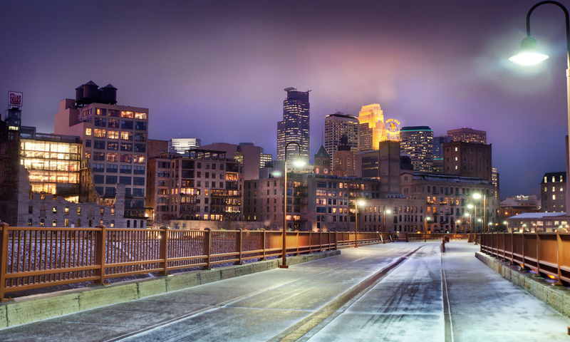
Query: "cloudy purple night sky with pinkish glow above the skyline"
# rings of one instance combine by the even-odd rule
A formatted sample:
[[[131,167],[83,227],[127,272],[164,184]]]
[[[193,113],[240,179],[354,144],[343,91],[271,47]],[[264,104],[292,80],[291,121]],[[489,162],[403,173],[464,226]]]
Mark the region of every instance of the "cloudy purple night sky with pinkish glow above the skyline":
[[[150,109],[152,139],[275,155],[283,89],[311,89],[311,155],[326,115],[380,103],[436,136],[486,130],[501,197],[539,195],[544,172],[565,170],[562,11],[534,11],[551,58],[524,68],[508,58],[538,1],[386,2],[2,1],[0,98],[23,92],[22,124],[52,133],[60,100],[111,83],[118,104]]]

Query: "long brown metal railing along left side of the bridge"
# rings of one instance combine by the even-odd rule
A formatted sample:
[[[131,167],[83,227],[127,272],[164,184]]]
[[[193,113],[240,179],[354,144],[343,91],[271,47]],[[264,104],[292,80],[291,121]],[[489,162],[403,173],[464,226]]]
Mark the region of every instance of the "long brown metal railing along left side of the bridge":
[[[121,276],[282,254],[281,231],[9,227],[0,224],[0,301],[5,294],[72,283],[105,284]],[[322,252],[382,243],[388,233],[287,232],[286,253]]]

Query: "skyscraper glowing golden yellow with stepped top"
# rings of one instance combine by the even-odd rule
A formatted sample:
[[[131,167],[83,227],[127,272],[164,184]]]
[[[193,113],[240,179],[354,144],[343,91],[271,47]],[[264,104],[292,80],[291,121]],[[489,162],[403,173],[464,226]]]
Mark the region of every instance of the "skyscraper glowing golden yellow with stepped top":
[[[378,103],[364,105],[358,112],[358,149],[378,150],[380,141],[386,140],[384,113]]]

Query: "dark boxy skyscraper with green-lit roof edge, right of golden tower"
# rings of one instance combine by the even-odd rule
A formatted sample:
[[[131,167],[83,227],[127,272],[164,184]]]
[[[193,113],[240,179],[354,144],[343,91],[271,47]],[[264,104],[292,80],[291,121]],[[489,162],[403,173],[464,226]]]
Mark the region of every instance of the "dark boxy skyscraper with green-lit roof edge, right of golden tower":
[[[432,172],[433,131],[427,126],[403,127],[400,130],[400,151],[412,158],[415,171]]]

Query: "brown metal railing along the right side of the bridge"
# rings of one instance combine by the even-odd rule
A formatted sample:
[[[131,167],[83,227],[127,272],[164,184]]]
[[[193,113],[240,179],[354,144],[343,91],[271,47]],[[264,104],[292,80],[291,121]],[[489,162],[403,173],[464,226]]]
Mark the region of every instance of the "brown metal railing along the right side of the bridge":
[[[479,234],[481,252],[532,269],[559,283],[570,283],[570,233]]]

